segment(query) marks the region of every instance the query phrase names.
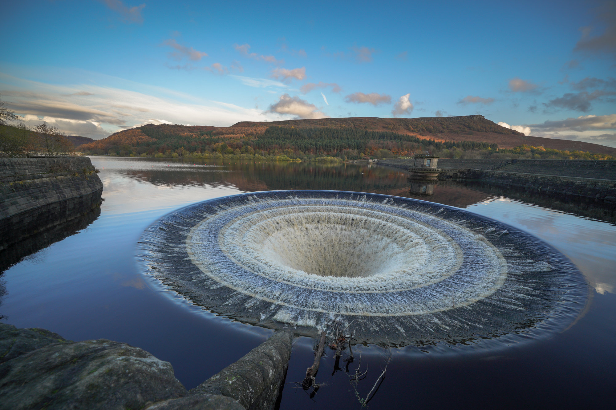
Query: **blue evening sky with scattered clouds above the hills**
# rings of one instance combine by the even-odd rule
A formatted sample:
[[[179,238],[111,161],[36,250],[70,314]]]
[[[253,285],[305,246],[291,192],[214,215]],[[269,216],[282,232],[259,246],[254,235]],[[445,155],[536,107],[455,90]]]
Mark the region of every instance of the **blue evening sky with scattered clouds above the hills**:
[[[20,1],[0,93],[103,138],[147,123],[482,114],[616,146],[616,2]]]

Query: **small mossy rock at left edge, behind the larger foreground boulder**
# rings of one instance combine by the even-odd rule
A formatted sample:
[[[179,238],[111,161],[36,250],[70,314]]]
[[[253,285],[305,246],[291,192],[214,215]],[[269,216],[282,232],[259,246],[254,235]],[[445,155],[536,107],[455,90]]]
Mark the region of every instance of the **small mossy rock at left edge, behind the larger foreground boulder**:
[[[18,329],[0,323],[0,363],[49,344],[65,343],[64,337],[45,329]]]

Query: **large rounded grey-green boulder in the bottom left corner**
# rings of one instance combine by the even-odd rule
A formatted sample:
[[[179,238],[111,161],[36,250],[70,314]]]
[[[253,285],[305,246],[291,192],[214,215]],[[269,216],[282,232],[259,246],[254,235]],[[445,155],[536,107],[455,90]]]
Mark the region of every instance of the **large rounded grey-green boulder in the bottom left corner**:
[[[49,344],[0,365],[0,409],[140,409],[186,393],[170,363],[105,339]]]

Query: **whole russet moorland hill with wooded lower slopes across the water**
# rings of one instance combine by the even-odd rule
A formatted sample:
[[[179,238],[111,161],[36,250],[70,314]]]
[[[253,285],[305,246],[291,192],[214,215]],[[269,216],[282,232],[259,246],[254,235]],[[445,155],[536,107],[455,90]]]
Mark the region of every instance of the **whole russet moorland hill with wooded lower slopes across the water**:
[[[495,154],[498,148],[524,144],[566,151],[616,154],[616,148],[598,144],[525,136],[483,116],[330,118],[238,122],[230,127],[148,124],[83,144],[79,150],[120,156],[259,154],[299,159],[317,156],[360,159],[366,156],[408,156],[418,151],[459,157],[454,152],[456,149],[458,153],[472,150],[476,155],[486,157]],[[541,157],[553,157],[555,154],[569,155],[564,152],[541,152]]]

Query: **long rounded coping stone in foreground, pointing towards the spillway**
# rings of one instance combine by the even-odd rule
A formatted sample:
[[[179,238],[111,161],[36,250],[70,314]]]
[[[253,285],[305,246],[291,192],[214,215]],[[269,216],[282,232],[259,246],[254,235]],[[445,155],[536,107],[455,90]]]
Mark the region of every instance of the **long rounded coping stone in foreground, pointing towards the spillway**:
[[[190,395],[223,395],[246,409],[273,409],[285,380],[293,336],[274,334],[240,360],[190,390]]]

